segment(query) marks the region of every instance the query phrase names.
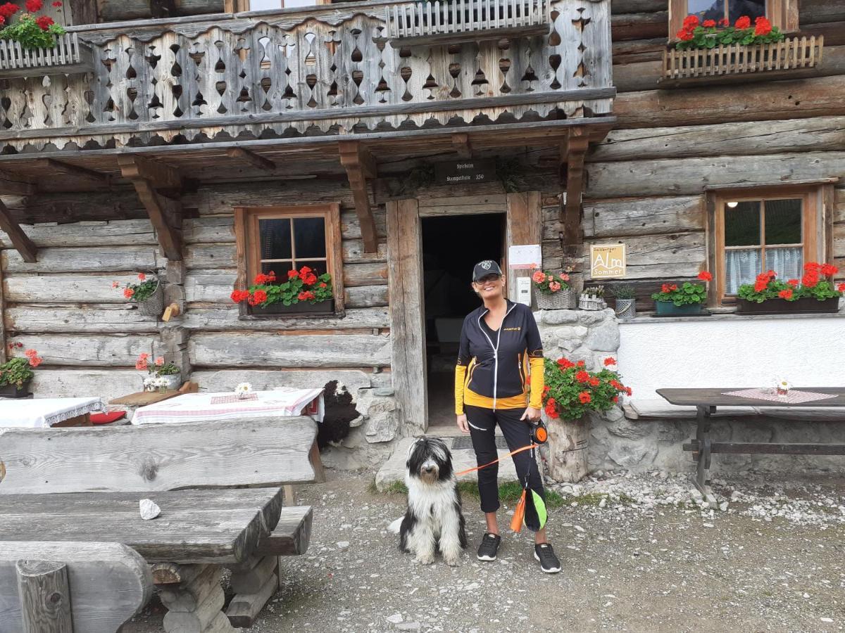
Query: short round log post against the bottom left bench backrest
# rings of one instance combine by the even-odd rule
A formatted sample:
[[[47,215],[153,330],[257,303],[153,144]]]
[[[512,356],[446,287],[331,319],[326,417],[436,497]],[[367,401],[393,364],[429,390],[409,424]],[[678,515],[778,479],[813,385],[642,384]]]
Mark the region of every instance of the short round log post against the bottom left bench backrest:
[[[44,560],[19,560],[16,569],[24,633],[74,633],[68,566]]]

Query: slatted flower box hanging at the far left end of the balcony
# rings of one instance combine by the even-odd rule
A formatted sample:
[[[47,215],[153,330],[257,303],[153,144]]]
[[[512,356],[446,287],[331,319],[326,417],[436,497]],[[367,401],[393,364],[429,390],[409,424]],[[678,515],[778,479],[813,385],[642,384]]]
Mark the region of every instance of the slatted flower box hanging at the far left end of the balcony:
[[[0,78],[86,73],[91,68],[90,46],[76,33],[59,35],[54,48],[25,49],[18,42],[0,40]]]

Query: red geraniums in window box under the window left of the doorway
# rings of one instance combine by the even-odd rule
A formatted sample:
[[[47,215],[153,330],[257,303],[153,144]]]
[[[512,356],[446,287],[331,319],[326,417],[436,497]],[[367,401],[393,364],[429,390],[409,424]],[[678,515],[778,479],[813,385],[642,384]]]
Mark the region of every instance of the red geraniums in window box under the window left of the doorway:
[[[332,313],[335,311],[335,292],[331,275],[318,275],[308,266],[289,270],[287,279],[279,282],[275,273],[259,273],[246,290],[232,291],[232,301],[246,302],[254,315],[290,313]]]

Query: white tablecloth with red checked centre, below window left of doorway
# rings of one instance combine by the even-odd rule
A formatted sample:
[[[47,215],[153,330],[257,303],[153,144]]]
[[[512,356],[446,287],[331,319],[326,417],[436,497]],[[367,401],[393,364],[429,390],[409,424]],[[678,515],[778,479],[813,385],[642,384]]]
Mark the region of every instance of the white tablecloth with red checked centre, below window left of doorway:
[[[318,422],[323,419],[323,389],[290,389],[274,392],[254,392],[255,400],[213,404],[212,398],[231,396],[229,393],[185,393],[161,403],[148,404],[135,411],[132,424],[166,422],[217,422],[226,419],[311,415]]]

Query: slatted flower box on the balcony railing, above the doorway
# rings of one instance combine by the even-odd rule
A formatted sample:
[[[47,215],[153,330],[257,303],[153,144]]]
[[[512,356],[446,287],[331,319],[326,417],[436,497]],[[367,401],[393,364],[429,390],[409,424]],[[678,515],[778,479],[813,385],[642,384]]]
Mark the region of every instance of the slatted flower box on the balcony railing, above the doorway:
[[[386,10],[390,41],[402,46],[548,33],[548,0],[420,0]]]

